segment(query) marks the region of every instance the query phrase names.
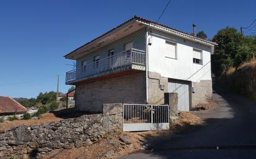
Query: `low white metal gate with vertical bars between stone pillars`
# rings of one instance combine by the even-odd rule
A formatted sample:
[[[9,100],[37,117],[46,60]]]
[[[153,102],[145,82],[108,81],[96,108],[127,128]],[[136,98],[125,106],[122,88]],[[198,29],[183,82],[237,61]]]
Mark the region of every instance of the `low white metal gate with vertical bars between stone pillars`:
[[[168,105],[123,105],[123,131],[169,129]]]

